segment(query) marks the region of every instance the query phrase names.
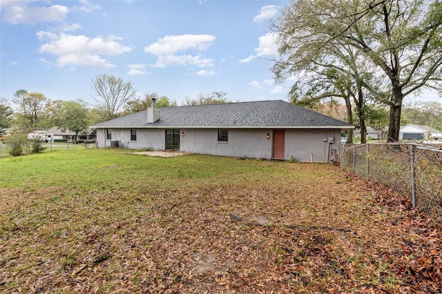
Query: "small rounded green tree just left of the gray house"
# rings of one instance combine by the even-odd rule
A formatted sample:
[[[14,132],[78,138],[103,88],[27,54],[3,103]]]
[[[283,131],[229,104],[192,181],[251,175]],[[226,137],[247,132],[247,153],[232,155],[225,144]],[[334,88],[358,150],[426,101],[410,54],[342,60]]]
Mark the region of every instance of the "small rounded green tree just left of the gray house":
[[[78,133],[88,128],[89,109],[85,101],[77,99],[76,101],[65,101],[61,108],[59,127],[62,130],[71,130]]]

